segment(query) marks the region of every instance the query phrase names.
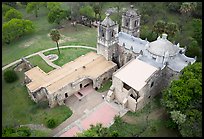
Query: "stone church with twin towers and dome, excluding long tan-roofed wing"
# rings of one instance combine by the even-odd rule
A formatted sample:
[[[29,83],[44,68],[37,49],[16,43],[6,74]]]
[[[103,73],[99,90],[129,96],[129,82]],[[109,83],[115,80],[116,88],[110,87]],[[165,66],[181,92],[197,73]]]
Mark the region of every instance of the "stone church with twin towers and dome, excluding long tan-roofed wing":
[[[185,49],[173,44],[162,34],[149,42],[139,38],[140,15],[133,7],[122,15],[121,32],[107,14],[98,26],[97,53],[117,63],[108,101],[136,111],[143,108],[195,58],[185,56]]]

